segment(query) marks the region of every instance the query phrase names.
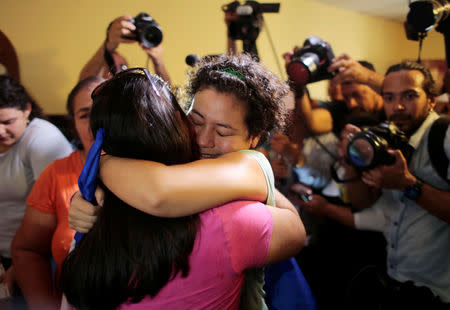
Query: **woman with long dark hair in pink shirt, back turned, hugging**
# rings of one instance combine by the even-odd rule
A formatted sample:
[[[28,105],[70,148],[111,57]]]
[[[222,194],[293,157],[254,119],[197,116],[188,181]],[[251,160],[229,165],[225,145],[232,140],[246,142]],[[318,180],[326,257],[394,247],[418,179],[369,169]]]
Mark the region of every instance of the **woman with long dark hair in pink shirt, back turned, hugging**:
[[[93,100],[91,128],[104,129],[107,154],[166,165],[197,158],[190,123],[146,70],[118,74],[94,90]],[[99,212],[61,275],[68,301],[81,309],[237,309],[245,269],[290,257],[303,245],[295,210],[256,202],[163,219],[105,189]]]

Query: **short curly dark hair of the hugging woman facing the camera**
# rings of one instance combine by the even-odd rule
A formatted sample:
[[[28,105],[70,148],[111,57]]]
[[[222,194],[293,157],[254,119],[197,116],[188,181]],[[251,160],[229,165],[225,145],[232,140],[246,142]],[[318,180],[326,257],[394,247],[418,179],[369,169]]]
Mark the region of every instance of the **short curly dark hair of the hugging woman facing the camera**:
[[[288,94],[289,86],[251,56],[223,54],[204,58],[190,78],[188,93],[193,97],[208,87],[232,94],[247,104],[248,134],[249,137],[260,135],[259,144],[267,140],[273,129],[284,127],[283,98]]]

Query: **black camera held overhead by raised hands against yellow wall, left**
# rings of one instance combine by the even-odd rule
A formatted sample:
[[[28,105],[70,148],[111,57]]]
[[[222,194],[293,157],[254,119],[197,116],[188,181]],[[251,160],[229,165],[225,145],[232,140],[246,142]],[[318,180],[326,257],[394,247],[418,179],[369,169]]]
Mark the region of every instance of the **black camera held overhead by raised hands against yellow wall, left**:
[[[146,48],[158,46],[162,41],[162,31],[158,23],[147,13],[139,13],[131,19],[136,26],[134,31],[136,41],[141,42]]]

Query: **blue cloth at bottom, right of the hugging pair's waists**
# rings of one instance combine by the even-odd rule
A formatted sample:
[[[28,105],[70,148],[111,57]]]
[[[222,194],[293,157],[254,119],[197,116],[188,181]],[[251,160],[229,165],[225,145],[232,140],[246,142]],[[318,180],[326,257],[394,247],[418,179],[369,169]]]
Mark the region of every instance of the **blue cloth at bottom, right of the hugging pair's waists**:
[[[294,258],[265,267],[266,303],[271,310],[316,310],[314,295]]]

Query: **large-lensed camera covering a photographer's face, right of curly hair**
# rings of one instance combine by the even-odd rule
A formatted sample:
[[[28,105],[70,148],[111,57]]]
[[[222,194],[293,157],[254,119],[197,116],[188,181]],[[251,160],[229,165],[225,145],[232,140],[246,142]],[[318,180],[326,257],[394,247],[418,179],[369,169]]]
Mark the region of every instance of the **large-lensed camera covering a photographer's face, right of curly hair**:
[[[286,71],[296,86],[330,79],[333,75],[328,72],[334,58],[333,49],[328,42],[316,36],[308,37],[303,47],[294,52]]]

